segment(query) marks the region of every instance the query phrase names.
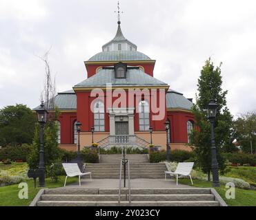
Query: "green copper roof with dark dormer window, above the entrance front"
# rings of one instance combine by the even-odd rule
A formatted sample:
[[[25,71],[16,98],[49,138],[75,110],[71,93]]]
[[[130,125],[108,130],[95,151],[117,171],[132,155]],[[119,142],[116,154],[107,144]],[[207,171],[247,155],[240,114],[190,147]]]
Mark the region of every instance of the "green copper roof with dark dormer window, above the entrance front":
[[[99,87],[106,86],[107,83],[111,83],[112,86],[148,86],[148,85],[166,85],[166,83],[157,80],[148,74],[145,74],[139,68],[127,69],[126,78],[115,78],[114,69],[101,69],[97,74],[90,78],[83,80],[81,83],[75,85],[75,87]]]

